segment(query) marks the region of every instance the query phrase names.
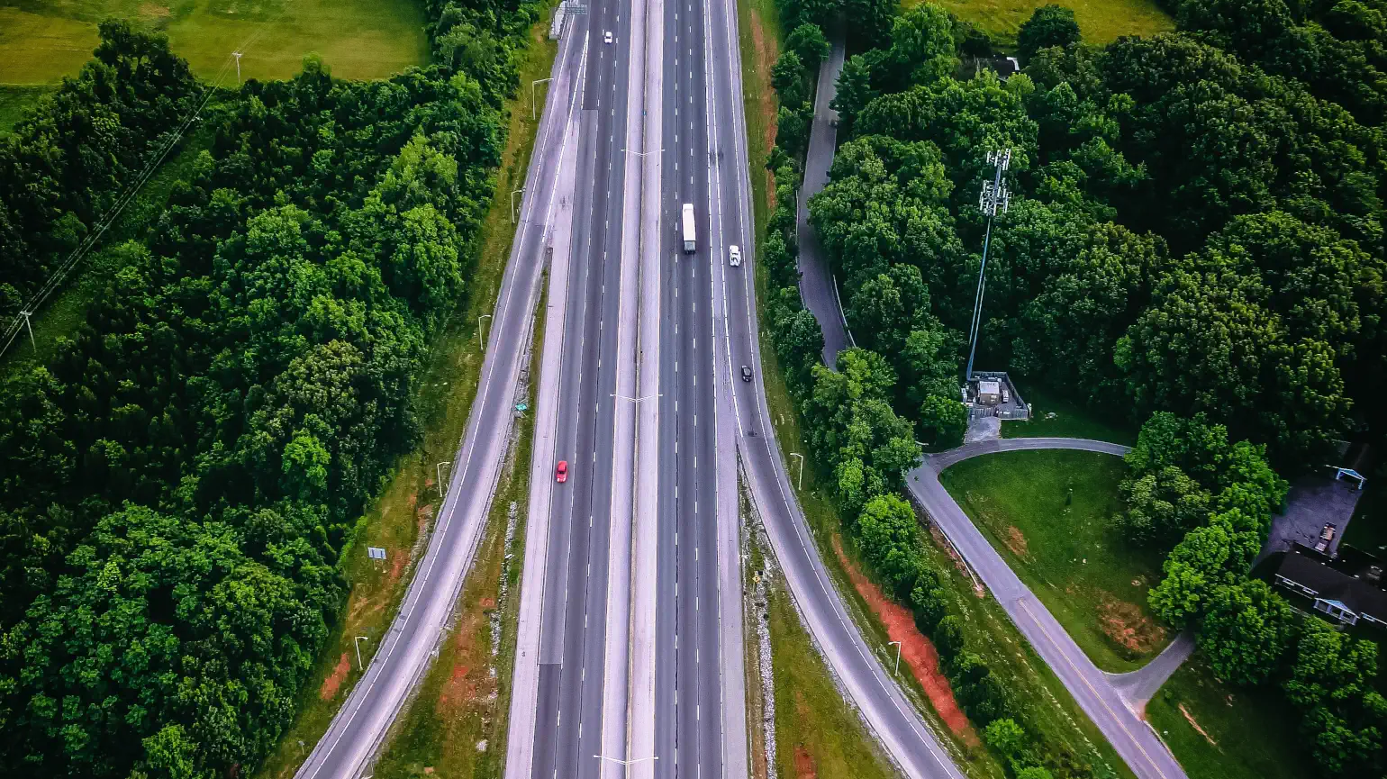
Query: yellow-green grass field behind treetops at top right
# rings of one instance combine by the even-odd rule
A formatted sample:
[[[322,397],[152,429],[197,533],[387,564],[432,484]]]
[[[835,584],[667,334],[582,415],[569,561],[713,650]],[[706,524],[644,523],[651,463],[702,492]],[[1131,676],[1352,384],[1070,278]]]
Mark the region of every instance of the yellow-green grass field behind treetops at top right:
[[[906,0],[918,6],[921,0]],[[990,33],[999,43],[1011,44],[1017,30],[1042,6],[1057,3],[1074,8],[1085,43],[1112,43],[1123,35],[1148,36],[1175,29],[1175,19],[1155,0],[932,0]]]

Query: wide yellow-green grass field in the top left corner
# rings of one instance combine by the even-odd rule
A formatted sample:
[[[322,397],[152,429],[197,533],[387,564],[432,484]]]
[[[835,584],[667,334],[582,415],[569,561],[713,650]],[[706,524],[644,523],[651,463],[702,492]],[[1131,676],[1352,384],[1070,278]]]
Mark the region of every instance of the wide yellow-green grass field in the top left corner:
[[[429,57],[417,0],[0,0],[0,83],[75,75],[108,17],[166,32],[203,78],[237,49],[241,76],[257,79],[293,76],[309,51],[345,79],[390,76]],[[223,83],[236,83],[234,71]]]

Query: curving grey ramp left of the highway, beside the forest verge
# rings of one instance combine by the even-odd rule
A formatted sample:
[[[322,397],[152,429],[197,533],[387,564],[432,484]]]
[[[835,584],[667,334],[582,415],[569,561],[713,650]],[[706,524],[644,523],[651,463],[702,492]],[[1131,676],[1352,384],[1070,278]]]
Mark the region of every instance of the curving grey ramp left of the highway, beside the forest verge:
[[[522,355],[530,337],[552,215],[559,205],[555,180],[581,43],[565,40],[553,62],[551,98],[526,179],[530,197],[520,209],[522,226],[491,320],[481,383],[429,548],[366,675],[298,769],[298,779],[340,779],[363,771],[423,674],[472,566],[515,420],[512,402]]]

